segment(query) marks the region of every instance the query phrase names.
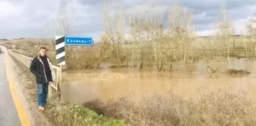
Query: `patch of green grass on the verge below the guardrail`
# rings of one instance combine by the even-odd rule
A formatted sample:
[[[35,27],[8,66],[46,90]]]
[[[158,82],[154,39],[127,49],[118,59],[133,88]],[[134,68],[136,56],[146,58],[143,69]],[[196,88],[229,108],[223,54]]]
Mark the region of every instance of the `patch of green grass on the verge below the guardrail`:
[[[86,109],[83,106],[75,106],[69,103],[50,104],[45,115],[52,118],[56,126],[82,126],[82,125],[102,125],[102,126],[124,126],[123,120],[106,118],[96,112]]]

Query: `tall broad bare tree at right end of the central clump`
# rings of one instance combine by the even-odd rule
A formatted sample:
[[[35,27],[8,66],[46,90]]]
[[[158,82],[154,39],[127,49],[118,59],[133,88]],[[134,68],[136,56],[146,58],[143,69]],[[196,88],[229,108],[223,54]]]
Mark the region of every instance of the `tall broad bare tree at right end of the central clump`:
[[[190,48],[190,39],[192,24],[192,14],[187,8],[181,8],[174,4],[168,14],[168,35],[173,39],[169,45],[173,47],[173,58],[171,61],[179,58],[184,64],[187,58],[187,49]]]

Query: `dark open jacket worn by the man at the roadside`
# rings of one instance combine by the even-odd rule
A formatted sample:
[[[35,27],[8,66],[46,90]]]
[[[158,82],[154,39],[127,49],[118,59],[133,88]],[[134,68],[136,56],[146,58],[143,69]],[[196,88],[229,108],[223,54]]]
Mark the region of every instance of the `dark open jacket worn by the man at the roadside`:
[[[46,83],[49,81],[55,81],[55,74],[52,68],[52,64],[50,62],[50,58],[46,57],[50,70],[51,72],[49,73],[50,75],[46,75],[45,73],[45,68],[43,65],[43,61],[38,55],[37,57],[33,58],[30,64],[30,71],[32,74],[36,76],[37,83]],[[47,77],[48,76],[48,77]]]

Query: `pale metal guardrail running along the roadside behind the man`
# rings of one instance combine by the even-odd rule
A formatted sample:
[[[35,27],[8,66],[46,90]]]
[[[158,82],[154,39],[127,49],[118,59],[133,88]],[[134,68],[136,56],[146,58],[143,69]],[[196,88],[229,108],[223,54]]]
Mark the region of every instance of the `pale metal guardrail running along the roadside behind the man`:
[[[28,57],[28,56],[26,56],[26,55],[21,55],[21,54],[18,54],[18,53],[16,53],[16,52],[11,52],[11,50],[8,50],[8,53],[10,54],[10,55],[12,55],[14,58],[17,58],[19,61],[21,61],[24,65],[26,65],[27,66],[27,68],[30,68],[30,63],[31,63],[31,61],[32,61],[32,59],[33,58],[30,58],[30,57]],[[54,66],[54,65],[52,65],[53,66],[53,70],[54,70],[54,72],[55,72],[55,74],[56,74],[56,78],[55,78],[55,82],[51,82],[50,84],[49,84],[49,98],[52,96],[52,88],[51,87],[53,87],[53,89],[54,90],[56,90],[56,93],[59,95],[59,86],[60,86],[60,84],[61,84],[61,77],[62,77],[62,71],[61,71],[61,68],[59,68],[59,67],[56,67],[56,66]]]

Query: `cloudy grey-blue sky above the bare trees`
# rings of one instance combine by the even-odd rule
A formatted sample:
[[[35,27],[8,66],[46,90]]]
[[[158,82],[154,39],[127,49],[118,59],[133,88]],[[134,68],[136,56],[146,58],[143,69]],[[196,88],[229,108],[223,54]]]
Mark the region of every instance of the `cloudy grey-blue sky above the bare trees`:
[[[55,36],[56,17],[60,12],[72,14],[71,36],[92,36],[98,40],[104,31],[103,0],[0,0],[0,39]],[[194,27],[207,35],[210,24],[218,19],[219,8],[226,2],[229,18],[242,30],[248,17],[256,11],[256,0],[176,0],[194,14]],[[111,0],[121,5],[123,14],[150,11],[166,14],[174,0]],[[114,4],[113,4],[114,3]],[[48,27],[46,27],[46,24]]]

